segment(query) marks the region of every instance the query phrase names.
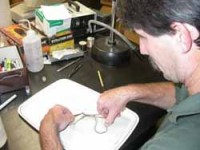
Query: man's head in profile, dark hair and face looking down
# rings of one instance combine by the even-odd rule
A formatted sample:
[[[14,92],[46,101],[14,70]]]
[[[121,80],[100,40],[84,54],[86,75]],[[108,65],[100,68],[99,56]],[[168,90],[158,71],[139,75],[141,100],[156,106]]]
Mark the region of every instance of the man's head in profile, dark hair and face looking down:
[[[194,69],[185,70],[192,65],[192,50],[200,46],[200,1],[119,0],[118,6],[122,21],[140,35],[141,53],[149,55],[167,79],[184,82]]]

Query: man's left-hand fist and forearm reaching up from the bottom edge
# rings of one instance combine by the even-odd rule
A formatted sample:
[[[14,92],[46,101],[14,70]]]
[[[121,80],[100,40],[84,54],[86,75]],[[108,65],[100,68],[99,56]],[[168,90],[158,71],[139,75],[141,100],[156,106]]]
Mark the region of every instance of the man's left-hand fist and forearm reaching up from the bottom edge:
[[[62,150],[63,146],[59,138],[59,132],[64,130],[74,116],[69,109],[56,105],[49,109],[40,124],[40,142],[42,150]]]

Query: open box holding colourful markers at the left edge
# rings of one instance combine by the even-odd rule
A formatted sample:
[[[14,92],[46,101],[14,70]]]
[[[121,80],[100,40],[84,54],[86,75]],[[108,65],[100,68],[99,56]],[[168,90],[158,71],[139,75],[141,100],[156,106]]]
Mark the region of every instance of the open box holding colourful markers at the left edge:
[[[29,88],[27,69],[23,63],[23,60],[16,46],[1,47],[0,62],[1,62],[1,71],[0,71],[1,94],[18,90],[21,88],[26,88],[26,89]],[[2,67],[2,63],[4,63],[3,64],[4,68]]]

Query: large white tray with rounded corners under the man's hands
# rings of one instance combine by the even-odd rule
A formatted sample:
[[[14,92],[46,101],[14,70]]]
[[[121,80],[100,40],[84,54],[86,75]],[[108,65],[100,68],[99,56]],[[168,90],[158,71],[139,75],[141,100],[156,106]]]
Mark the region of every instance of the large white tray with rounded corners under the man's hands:
[[[40,121],[55,104],[69,108],[73,114],[97,114],[99,93],[68,79],[60,79],[21,104],[18,113],[37,130]],[[105,119],[98,122],[103,125]],[[139,122],[138,115],[126,108],[107,132],[95,132],[94,118],[84,118],[60,133],[66,150],[117,150]]]

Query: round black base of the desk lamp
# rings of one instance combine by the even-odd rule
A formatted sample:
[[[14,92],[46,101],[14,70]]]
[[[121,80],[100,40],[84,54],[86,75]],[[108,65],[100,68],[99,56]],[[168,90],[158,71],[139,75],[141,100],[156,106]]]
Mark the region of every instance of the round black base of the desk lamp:
[[[109,43],[109,37],[102,37],[95,40],[91,55],[100,63],[117,66],[129,60],[130,48],[117,37],[113,44]]]

